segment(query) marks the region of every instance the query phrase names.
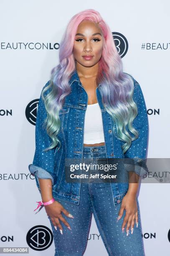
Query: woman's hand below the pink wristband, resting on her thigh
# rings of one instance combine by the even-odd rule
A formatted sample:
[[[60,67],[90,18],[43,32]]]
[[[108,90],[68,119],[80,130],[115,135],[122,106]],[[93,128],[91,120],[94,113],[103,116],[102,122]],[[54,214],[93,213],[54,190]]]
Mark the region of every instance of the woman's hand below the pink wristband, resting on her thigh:
[[[52,221],[55,229],[57,229],[56,226],[58,226],[61,234],[63,234],[63,228],[59,221],[59,220],[61,220],[66,225],[66,227],[71,230],[69,223],[65,220],[65,218],[63,218],[61,212],[63,212],[69,218],[74,218],[74,217],[59,202],[54,201],[50,205],[44,205],[44,207],[45,207],[47,215],[49,216],[49,218],[51,218],[51,221]]]

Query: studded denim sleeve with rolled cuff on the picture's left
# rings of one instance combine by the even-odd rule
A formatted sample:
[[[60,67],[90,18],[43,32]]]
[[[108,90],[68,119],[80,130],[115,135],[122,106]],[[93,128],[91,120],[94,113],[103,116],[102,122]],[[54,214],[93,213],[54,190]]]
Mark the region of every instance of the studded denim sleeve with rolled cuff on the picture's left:
[[[50,81],[48,81],[44,87],[46,87],[49,84],[49,82]],[[45,95],[46,95],[46,92],[45,92]],[[36,185],[40,192],[41,190],[40,190],[40,184],[39,184],[38,178],[51,179],[52,184],[54,184],[54,179],[55,179],[55,175],[54,175],[55,148],[50,149],[48,151],[43,151],[44,148],[49,147],[52,143],[52,139],[48,136],[48,133],[46,132],[46,128],[43,127],[43,123],[46,117],[47,117],[46,108],[45,108],[43,99],[40,96],[39,103],[38,103],[37,117],[36,117],[36,129],[35,129],[36,149],[35,149],[35,154],[33,158],[33,164],[29,164],[28,166],[30,173],[35,175]]]

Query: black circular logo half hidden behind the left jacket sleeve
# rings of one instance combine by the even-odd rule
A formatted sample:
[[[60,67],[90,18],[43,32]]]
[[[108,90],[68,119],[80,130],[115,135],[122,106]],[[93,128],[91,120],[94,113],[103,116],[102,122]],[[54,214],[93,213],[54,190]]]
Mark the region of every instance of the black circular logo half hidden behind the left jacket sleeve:
[[[38,102],[39,102],[39,99],[32,100],[30,103],[28,103],[25,109],[26,118],[33,125],[36,125]]]

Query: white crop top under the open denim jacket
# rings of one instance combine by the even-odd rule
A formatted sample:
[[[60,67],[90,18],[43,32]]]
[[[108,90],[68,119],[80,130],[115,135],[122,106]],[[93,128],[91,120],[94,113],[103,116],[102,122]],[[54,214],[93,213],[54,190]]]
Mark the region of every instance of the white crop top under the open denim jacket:
[[[103,122],[99,103],[87,105],[84,122],[84,144],[104,142]]]

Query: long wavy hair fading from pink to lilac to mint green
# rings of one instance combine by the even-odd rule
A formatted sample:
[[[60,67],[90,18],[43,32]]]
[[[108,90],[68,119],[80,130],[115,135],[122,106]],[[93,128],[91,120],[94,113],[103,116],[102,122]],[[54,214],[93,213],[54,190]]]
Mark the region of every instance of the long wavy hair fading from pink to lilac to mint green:
[[[119,140],[124,141],[122,151],[125,153],[131,142],[139,136],[138,131],[132,126],[132,122],[137,116],[137,105],[132,98],[134,83],[132,77],[122,71],[122,60],[114,44],[109,26],[99,12],[93,9],[79,12],[69,21],[60,43],[59,64],[51,70],[50,83],[42,90],[41,95],[47,111],[44,124],[46,124],[46,131],[53,141],[51,146],[45,148],[45,151],[56,147],[60,142],[57,138],[60,131],[59,111],[62,109],[64,98],[71,92],[69,79],[76,69],[73,46],[77,27],[82,20],[98,23],[104,35],[96,82],[101,84],[99,90],[104,106],[116,123],[113,133]],[[50,92],[44,96],[49,88],[51,88]],[[126,126],[134,134],[133,138],[128,133]]]

